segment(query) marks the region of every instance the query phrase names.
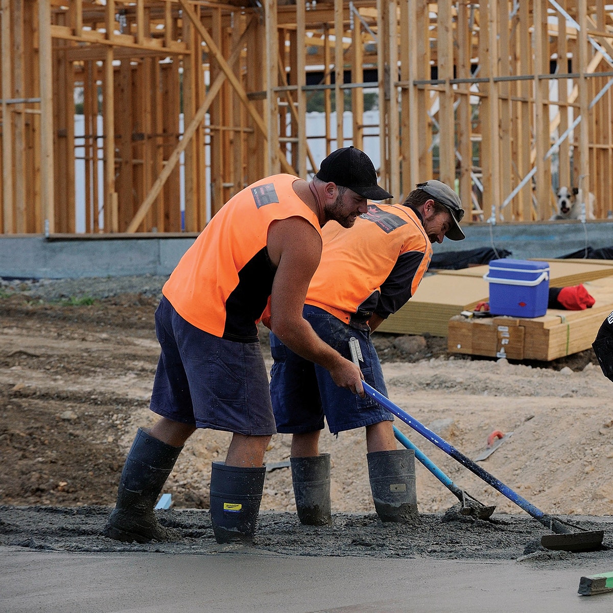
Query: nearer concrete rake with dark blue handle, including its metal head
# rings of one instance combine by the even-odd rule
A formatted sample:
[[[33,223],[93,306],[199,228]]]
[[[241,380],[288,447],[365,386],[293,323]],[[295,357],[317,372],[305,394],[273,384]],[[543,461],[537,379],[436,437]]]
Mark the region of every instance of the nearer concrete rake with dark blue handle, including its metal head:
[[[481,466],[473,462],[470,458],[460,453],[454,446],[447,443],[436,433],[429,430],[425,425],[419,423],[414,417],[411,417],[406,411],[403,411],[399,406],[395,405],[389,398],[386,398],[383,394],[380,394],[374,387],[368,385],[362,381],[364,391],[371,398],[374,398],[381,406],[386,408],[390,413],[394,413],[395,416],[400,417],[403,422],[411,426],[414,430],[417,430],[422,436],[425,436],[429,441],[432,441],[439,449],[442,449],[447,455],[451,455],[454,460],[457,460],[468,468],[471,472],[476,474],[479,478],[483,479],[489,485],[502,495],[506,496],[517,504],[525,512],[530,514],[536,520],[541,522],[546,528],[549,528],[553,535],[545,535],[541,538],[541,545],[546,549],[564,550],[564,551],[595,551],[601,549],[604,538],[604,530],[585,530],[579,526],[570,524],[560,517],[553,517],[547,515],[541,509],[536,508],[533,504],[529,503],[525,498],[522,498],[518,493],[514,492],[510,487],[504,485],[502,481],[499,481],[492,474],[483,470]],[[571,531],[571,528],[579,530],[579,532]]]

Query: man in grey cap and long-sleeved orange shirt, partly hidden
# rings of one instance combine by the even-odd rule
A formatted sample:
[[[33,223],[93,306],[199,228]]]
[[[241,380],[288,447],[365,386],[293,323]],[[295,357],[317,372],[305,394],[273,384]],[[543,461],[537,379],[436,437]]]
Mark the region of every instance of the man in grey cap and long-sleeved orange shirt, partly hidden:
[[[364,380],[384,395],[383,371],[370,332],[413,296],[430,264],[431,243],[464,238],[459,225],[463,213],[457,194],[430,180],[419,183],[402,205],[369,204],[351,231],[336,223],[322,230],[321,263],[308,288],[303,316],[322,340],[357,360]],[[416,501],[409,488],[396,487],[398,472],[393,474],[398,462],[414,460],[407,449],[396,450],[392,414],[371,398],[335,386],[326,370],[297,356],[274,329],[270,345],[275,360],[273,411],[278,432],[293,435],[292,482],[300,520],[331,522],[330,457],[319,455],[324,417],[332,433],[366,428],[371,485],[387,479],[388,491],[395,491],[389,504],[378,500],[373,489],[379,517],[413,520]]]

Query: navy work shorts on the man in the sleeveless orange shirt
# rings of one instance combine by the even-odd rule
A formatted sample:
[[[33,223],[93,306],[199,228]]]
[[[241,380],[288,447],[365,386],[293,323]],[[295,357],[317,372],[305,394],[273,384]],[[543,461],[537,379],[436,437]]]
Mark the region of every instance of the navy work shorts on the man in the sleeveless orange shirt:
[[[237,343],[204,332],[185,321],[164,297],[155,322],[162,351],[151,411],[197,428],[275,434],[259,343]]]

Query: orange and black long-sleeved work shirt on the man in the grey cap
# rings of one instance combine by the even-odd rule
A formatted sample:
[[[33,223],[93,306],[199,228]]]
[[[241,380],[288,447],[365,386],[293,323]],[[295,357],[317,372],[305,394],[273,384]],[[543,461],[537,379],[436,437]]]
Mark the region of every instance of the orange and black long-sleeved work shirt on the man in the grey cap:
[[[369,203],[351,229],[329,222],[322,237],[306,302],[354,327],[366,328],[373,313],[385,319],[402,307],[432,259],[421,216],[398,204]]]

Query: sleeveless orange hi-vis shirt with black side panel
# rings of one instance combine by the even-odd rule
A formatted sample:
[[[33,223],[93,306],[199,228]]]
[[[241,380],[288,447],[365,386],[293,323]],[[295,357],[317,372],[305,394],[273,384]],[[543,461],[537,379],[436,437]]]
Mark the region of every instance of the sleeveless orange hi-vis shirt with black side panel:
[[[181,257],[162,294],[192,326],[228,340],[257,341],[276,268],[268,227],[302,217],[321,234],[315,213],[294,192],[292,175],[274,175],[238,192],[213,216]]]

